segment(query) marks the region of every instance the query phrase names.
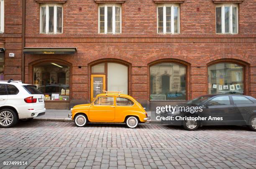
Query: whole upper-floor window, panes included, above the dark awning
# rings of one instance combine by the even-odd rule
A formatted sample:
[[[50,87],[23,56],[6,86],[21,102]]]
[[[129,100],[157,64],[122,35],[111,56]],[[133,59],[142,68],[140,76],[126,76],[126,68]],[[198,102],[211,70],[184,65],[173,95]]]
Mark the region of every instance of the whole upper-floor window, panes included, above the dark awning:
[[[61,5],[41,5],[40,33],[62,33],[62,11]]]

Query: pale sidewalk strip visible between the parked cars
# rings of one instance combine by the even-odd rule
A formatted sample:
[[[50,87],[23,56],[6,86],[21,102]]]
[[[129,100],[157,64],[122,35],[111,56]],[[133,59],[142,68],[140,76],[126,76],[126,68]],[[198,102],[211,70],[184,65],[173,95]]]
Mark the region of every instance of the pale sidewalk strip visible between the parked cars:
[[[44,116],[35,117],[36,121],[61,121],[61,122],[73,122],[68,118],[68,114],[71,113],[70,110],[56,110],[56,109],[46,109]],[[149,122],[159,123],[156,121],[155,114],[151,114],[151,111],[147,111],[148,116],[151,116]]]

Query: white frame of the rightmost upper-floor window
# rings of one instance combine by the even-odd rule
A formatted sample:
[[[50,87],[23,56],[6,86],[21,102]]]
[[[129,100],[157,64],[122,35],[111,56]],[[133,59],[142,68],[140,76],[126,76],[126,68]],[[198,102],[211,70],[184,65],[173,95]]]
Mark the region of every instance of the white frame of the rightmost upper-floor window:
[[[221,7],[221,33],[217,33],[217,24],[216,24],[216,8]],[[225,33],[225,7],[229,7],[229,33]],[[232,7],[236,7],[236,32],[237,33],[233,33],[233,8]],[[234,4],[225,4],[225,5],[217,5],[215,8],[215,33],[216,34],[238,34],[238,5],[234,5]]]

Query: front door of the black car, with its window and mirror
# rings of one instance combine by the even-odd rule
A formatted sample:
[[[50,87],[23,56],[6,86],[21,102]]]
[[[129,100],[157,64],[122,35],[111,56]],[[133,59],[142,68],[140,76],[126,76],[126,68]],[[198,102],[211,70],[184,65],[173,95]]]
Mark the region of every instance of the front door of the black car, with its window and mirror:
[[[204,125],[234,125],[232,123],[240,112],[229,96],[216,96],[205,104],[203,114],[208,118]]]

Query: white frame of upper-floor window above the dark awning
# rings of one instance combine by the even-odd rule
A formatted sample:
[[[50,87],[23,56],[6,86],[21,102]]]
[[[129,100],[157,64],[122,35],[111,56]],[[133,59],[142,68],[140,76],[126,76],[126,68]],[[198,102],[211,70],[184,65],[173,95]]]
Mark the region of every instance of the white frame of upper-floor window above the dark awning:
[[[42,22],[41,22],[42,7],[46,7],[46,33],[42,33]],[[54,7],[54,32],[53,33],[49,33],[49,7]],[[59,4],[44,4],[44,5],[40,5],[40,33],[41,34],[61,34],[57,32],[57,7],[62,8],[61,33],[63,33],[63,20],[64,20],[63,6]]]

